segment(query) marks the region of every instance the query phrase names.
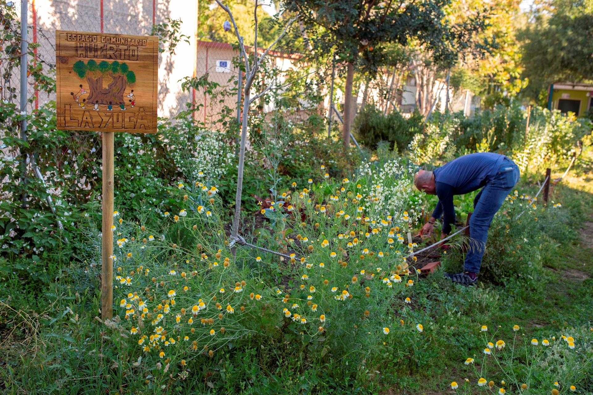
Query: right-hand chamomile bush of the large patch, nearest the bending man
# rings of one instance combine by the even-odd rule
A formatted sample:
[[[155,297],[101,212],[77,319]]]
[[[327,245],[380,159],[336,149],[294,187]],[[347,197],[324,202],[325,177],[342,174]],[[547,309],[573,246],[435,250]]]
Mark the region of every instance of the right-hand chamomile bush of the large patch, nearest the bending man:
[[[422,323],[402,319],[417,279],[405,259],[416,247],[406,233],[419,214],[412,177],[413,169],[396,160],[381,168],[365,163],[341,182],[321,166],[315,182],[293,185],[262,209],[292,252],[276,307],[291,339],[323,356],[360,355],[422,336]]]

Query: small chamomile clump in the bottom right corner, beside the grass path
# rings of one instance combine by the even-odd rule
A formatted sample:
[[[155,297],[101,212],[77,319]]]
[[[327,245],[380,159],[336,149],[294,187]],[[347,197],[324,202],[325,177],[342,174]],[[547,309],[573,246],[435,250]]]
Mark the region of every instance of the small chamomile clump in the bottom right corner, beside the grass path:
[[[550,333],[537,339],[522,333],[518,325],[493,331],[483,325],[476,329],[476,337],[484,348],[460,357],[466,376],[460,379],[461,386],[457,381],[449,385],[460,393],[474,393],[482,387],[483,391],[500,395],[558,395],[590,390],[591,331],[588,327],[572,328],[558,338]]]

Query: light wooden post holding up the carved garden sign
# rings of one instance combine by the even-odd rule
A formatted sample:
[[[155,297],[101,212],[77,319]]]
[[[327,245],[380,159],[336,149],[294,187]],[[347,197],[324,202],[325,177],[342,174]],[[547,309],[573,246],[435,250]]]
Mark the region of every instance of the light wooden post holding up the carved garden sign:
[[[103,237],[101,240],[101,318],[113,314],[113,131],[103,133]]]

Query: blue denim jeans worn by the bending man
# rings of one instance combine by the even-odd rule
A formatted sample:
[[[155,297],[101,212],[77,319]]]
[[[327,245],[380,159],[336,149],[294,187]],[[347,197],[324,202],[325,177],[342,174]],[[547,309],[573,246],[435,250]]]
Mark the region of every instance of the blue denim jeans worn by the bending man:
[[[470,218],[470,245],[464,262],[465,271],[480,272],[492,218],[518,180],[518,166],[511,159],[505,158],[496,174],[474,198],[474,213]]]

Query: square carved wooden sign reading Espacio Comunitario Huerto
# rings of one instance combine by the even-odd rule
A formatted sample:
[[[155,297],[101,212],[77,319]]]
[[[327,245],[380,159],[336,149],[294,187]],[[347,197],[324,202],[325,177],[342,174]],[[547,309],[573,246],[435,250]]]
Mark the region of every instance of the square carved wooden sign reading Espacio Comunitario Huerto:
[[[58,129],[157,133],[158,38],[56,31]]]

